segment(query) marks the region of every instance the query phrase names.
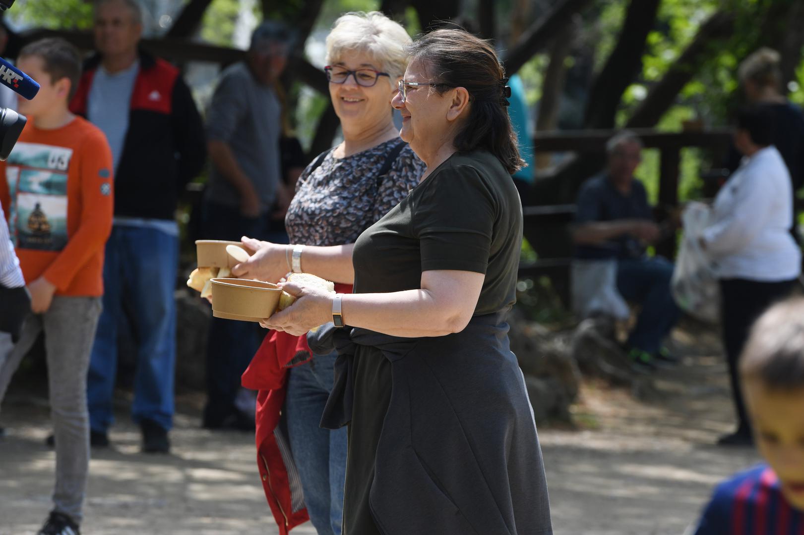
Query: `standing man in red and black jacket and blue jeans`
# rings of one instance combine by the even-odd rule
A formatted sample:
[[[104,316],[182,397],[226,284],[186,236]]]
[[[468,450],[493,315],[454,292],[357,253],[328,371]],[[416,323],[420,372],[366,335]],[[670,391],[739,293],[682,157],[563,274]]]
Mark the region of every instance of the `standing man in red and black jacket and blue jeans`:
[[[90,439],[109,444],[117,326],[130,319],[138,345],[133,419],[142,427],[143,450],[166,452],[174,412],[175,210],[203,168],[206,140],[178,68],[139,50],[142,13],[135,0],[97,2],[94,32],[98,53],[84,66],[70,106],[103,130],[114,159],[104,310],[88,375]]]

